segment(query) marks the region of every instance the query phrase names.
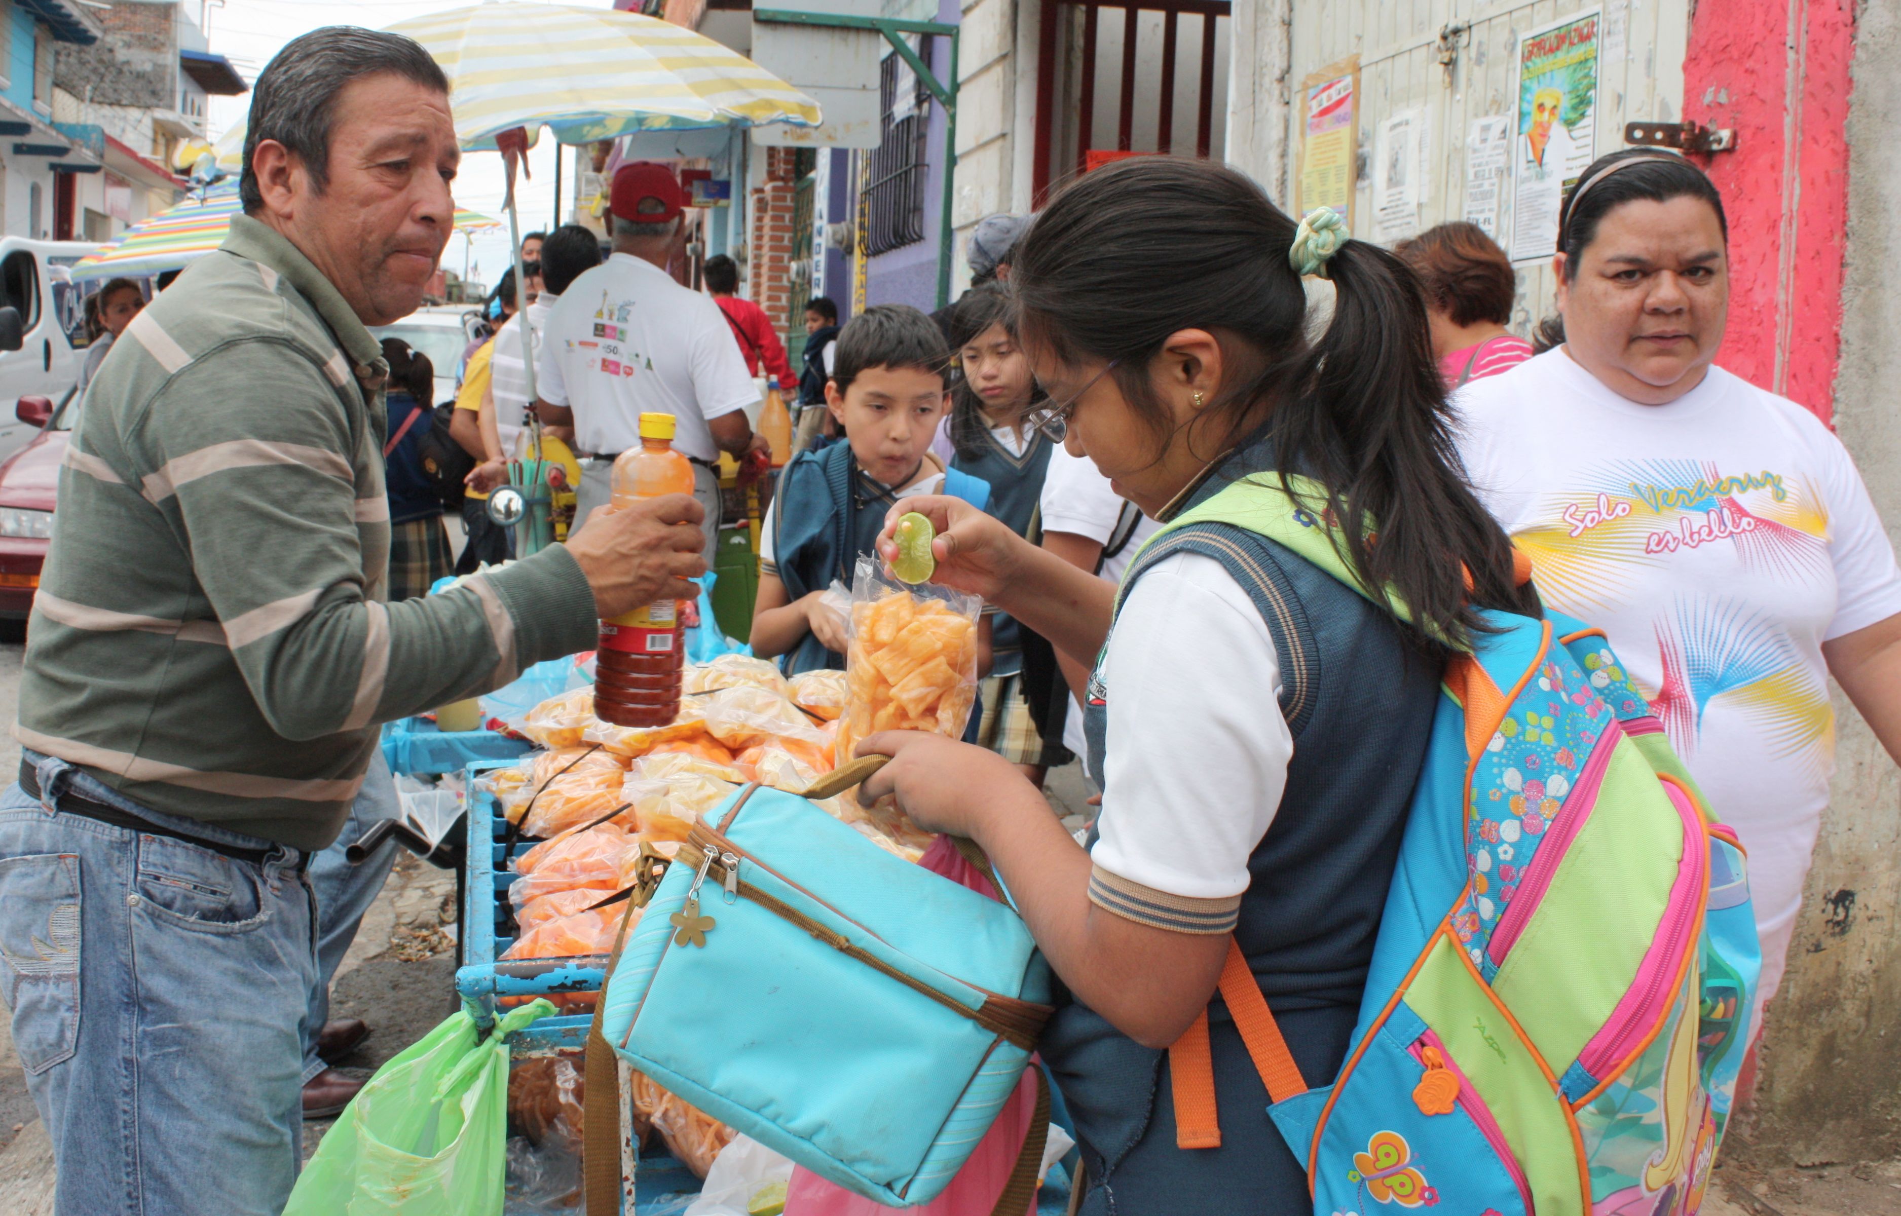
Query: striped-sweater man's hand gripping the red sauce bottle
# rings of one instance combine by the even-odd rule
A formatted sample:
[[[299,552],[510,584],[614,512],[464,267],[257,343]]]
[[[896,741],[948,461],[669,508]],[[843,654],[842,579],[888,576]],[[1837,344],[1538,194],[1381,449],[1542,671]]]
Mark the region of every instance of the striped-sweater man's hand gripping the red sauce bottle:
[[[705,509],[688,494],[648,498],[618,511],[601,509],[568,538],[597,616],[614,618],[656,600],[698,598],[686,581],[707,572]]]

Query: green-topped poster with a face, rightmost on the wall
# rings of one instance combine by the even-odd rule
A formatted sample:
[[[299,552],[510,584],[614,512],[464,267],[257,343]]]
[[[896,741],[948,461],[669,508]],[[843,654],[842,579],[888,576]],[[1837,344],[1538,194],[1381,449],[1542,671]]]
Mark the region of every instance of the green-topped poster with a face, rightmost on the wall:
[[[1519,42],[1511,89],[1513,262],[1551,256],[1565,190],[1597,156],[1597,10],[1534,28]]]

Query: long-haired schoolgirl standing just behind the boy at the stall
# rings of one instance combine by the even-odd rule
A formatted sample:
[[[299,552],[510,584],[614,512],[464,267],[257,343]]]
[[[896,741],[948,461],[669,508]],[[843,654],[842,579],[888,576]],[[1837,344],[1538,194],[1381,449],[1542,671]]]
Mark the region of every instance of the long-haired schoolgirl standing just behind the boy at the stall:
[[[1036,502],[1049,467],[1049,437],[1025,416],[1040,401],[1030,363],[1009,325],[1009,291],[989,281],[971,287],[950,310],[950,350],[958,376],[950,386],[949,466],[990,483],[990,515],[1017,536],[1036,522]],[[943,452],[943,448],[939,448]],[[977,743],[989,747],[1042,788],[1044,737],[1023,690],[1023,627],[1008,614],[990,616],[990,674],[983,680]]]

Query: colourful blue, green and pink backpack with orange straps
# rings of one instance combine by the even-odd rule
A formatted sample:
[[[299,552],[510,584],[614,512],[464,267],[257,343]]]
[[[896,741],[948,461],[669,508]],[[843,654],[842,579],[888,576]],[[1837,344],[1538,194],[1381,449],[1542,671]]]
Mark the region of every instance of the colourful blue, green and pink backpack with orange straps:
[[[1325,519],[1253,477],[1158,538],[1241,528],[1359,589]],[[1741,846],[1601,631],[1485,619],[1447,663],[1340,1075],[1306,1087],[1234,946],[1220,994],[1317,1216],[1696,1212],[1760,961]],[[1205,1015],[1171,1075],[1179,1144],[1219,1146]]]

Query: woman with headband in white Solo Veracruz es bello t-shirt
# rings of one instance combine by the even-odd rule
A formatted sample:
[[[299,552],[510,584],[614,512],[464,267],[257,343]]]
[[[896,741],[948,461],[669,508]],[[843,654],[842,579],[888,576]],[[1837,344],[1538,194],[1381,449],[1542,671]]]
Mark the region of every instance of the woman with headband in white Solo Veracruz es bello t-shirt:
[[[1677,156],[1565,200],[1555,350],[1454,399],[1546,602],[1599,625],[1749,851],[1774,996],[1834,766],[1833,674],[1901,758],[1901,574],[1842,443],[1715,365],[1728,228]]]

